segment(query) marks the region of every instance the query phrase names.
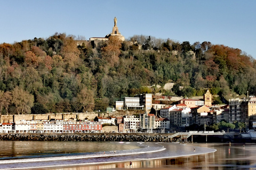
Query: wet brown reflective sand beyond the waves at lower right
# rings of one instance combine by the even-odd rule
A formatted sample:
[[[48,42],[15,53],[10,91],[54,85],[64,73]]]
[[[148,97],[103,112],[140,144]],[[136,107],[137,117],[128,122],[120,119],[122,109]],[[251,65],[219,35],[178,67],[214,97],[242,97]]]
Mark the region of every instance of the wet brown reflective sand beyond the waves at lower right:
[[[217,149],[216,152],[202,155],[138,160],[132,162],[132,169],[256,169],[256,145],[254,143],[190,143],[195,147]],[[61,170],[127,169],[130,162],[54,168]]]

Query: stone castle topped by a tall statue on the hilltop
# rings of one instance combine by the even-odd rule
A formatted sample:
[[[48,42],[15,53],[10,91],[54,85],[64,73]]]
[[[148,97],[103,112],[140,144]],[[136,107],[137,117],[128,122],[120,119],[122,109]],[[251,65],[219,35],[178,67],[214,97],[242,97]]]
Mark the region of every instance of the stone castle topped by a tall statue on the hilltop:
[[[94,41],[94,44],[97,44],[98,43],[97,41],[108,41],[111,36],[118,37],[118,39],[122,40],[122,41],[125,40],[124,36],[121,35],[121,33],[118,30],[117,18],[116,17],[114,18],[114,27],[113,27],[112,32],[110,34],[106,35],[105,37],[91,37],[90,41]]]

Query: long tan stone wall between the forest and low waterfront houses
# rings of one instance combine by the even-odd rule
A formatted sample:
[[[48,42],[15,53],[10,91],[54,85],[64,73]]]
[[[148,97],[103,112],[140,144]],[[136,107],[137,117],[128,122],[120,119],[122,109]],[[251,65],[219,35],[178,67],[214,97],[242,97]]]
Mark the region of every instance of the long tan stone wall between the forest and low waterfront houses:
[[[0,123],[11,123],[15,121],[36,121],[36,120],[51,120],[52,118],[58,120],[93,120],[96,116],[101,117],[122,117],[125,115],[132,115],[134,112],[121,111],[112,113],[99,113],[99,112],[88,112],[88,113],[47,113],[47,114],[29,114],[29,115],[0,115]]]

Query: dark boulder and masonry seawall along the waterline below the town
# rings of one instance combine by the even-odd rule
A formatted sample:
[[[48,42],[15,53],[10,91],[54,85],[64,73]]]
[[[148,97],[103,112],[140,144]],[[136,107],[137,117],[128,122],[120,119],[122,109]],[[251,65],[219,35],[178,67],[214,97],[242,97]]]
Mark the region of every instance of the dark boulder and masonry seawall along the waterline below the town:
[[[0,140],[11,141],[124,141],[124,142],[175,142],[180,137],[167,139],[172,133],[2,133]],[[188,139],[191,142],[191,138]],[[214,143],[255,143],[256,140],[240,135],[199,136],[193,135],[193,142]]]

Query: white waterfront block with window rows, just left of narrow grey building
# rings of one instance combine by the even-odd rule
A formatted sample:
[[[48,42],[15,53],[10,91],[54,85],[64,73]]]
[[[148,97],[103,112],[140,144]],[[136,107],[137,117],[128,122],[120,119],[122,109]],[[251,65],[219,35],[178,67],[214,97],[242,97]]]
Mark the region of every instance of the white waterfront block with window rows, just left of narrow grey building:
[[[140,129],[140,118],[136,116],[124,116],[124,132],[138,132]]]

